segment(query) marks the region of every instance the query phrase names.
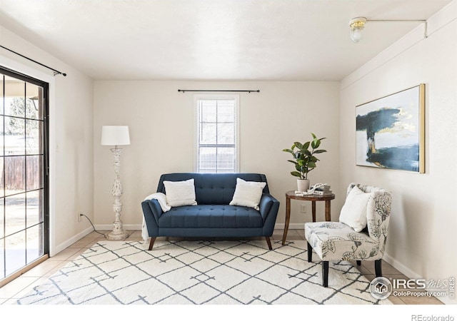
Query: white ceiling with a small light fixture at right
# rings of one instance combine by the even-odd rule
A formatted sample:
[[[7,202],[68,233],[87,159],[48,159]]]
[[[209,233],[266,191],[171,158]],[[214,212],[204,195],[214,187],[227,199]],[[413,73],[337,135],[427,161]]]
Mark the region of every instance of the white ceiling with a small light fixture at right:
[[[450,2],[0,0],[0,24],[94,79],[339,81],[420,25],[367,22],[353,44],[351,18],[422,20]]]

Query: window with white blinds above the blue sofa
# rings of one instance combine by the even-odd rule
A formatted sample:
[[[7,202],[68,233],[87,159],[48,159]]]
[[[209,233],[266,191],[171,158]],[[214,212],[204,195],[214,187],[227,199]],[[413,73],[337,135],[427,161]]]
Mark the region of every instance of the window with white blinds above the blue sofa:
[[[198,173],[238,172],[238,95],[196,95]]]

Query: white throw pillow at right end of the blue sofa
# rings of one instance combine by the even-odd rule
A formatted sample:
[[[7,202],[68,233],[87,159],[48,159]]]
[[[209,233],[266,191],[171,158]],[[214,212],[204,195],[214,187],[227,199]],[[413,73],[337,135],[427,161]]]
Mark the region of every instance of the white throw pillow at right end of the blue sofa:
[[[258,203],[262,197],[265,182],[248,182],[241,178],[236,178],[235,193],[229,205],[246,206],[259,210]]]

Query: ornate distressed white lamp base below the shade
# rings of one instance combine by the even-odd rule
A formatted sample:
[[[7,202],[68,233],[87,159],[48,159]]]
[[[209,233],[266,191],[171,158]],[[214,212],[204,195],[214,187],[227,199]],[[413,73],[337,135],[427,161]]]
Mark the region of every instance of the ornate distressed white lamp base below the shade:
[[[119,157],[121,156],[121,148],[111,148],[111,152],[114,154],[114,185],[111,190],[111,194],[114,197],[113,203],[113,210],[115,219],[114,219],[114,228],[111,232],[105,233],[105,237],[108,240],[125,240],[129,233],[124,230],[121,221],[121,210],[122,210],[122,203],[121,203],[121,196],[123,193],[122,185],[121,185],[121,178],[119,176],[119,167],[121,162],[119,161]]]

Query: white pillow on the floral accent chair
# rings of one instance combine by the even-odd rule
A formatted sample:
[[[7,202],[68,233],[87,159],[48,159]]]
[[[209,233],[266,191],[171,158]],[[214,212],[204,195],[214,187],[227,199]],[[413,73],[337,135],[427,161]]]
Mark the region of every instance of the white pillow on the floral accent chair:
[[[340,222],[351,226],[356,232],[366,227],[366,205],[371,193],[364,193],[354,186],[346,197],[346,202],[341,208]]]

